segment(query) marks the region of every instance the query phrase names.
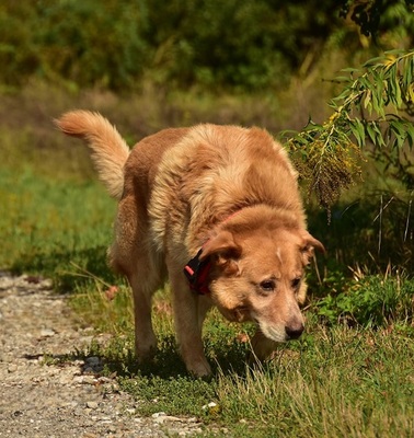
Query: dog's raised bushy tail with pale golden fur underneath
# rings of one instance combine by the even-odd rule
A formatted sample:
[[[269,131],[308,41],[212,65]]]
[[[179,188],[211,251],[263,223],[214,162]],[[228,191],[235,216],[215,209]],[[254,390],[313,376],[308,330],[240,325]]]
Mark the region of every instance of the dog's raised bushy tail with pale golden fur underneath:
[[[120,199],[124,189],[124,165],[129,148],[110,122],[97,113],[73,111],[55,120],[68,136],[80,137],[91,148],[99,178],[111,196]]]

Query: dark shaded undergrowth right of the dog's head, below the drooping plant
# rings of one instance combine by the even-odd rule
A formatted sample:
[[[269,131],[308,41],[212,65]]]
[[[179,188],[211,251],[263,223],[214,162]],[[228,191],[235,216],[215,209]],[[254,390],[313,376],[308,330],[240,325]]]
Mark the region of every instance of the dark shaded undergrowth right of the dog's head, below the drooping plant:
[[[310,230],[327,249],[326,257],[319,257],[323,284],[311,272],[313,297],[344,289],[350,275],[348,266],[354,269],[359,265],[366,273],[378,274],[386,272],[391,263],[394,268],[413,274],[412,201],[382,192],[381,187],[372,188],[370,184],[378,176],[370,178],[360,184],[357,193],[355,188],[346,199],[331,207],[329,224],[324,210],[309,209]]]

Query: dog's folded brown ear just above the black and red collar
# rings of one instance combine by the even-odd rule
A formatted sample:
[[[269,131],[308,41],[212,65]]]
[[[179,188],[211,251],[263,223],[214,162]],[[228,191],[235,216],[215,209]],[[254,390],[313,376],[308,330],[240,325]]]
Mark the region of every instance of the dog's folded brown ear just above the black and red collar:
[[[241,246],[234,242],[233,234],[230,231],[220,231],[215,238],[211,238],[203,246],[199,260],[210,257],[211,261],[227,270],[237,268],[235,260],[241,255]]]

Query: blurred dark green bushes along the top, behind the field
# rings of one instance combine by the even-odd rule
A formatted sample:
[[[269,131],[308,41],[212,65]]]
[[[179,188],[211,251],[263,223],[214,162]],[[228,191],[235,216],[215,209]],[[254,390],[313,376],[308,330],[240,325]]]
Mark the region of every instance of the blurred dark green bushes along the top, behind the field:
[[[0,83],[37,77],[70,90],[137,90],[145,80],[169,90],[264,90],[307,76],[333,39],[346,39],[352,55],[361,47],[340,10],[335,0],[3,0]],[[404,1],[382,12],[380,33],[405,32],[386,47],[410,45]]]

